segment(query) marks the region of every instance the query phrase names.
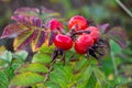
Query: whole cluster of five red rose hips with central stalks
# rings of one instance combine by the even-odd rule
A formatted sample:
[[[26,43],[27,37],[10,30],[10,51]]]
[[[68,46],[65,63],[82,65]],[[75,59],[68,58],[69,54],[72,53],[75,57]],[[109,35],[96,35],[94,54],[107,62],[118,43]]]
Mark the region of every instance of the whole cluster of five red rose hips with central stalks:
[[[68,21],[69,32],[64,34],[63,24],[52,19],[48,22],[52,31],[59,31],[53,43],[63,51],[68,51],[73,46],[78,54],[86,54],[98,42],[100,32],[97,26],[90,26],[88,21],[81,15],[75,15]]]

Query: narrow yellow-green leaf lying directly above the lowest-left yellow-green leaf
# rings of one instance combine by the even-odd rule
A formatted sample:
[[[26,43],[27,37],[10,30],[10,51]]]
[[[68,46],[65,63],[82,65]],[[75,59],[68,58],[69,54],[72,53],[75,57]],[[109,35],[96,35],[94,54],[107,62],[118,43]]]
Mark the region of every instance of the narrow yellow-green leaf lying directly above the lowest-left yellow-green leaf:
[[[26,64],[26,65],[22,65],[21,67],[19,67],[15,73],[25,73],[25,72],[32,72],[32,73],[47,73],[48,68],[42,64]]]

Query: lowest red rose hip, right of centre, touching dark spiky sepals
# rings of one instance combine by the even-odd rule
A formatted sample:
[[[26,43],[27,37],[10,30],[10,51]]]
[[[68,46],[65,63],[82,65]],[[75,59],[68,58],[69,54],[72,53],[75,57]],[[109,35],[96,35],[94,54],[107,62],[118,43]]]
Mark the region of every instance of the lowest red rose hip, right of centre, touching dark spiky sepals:
[[[86,54],[92,45],[92,37],[89,34],[82,34],[75,41],[75,51],[79,54]]]

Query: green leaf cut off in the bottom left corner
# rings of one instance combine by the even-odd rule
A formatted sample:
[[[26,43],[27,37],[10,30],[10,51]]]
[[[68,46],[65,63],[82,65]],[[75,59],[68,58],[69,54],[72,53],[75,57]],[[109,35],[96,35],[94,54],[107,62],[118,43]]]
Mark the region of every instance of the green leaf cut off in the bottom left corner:
[[[0,87],[8,88],[8,85],[9,85],[9,80],[7,75],[2,70],[0,70]]]

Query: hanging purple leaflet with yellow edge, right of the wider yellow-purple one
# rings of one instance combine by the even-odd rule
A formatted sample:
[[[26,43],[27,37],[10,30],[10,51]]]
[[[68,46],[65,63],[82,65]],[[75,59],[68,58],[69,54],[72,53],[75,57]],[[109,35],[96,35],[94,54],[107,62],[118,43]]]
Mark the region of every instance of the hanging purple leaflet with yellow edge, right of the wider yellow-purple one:
[[[36,52],[45,42],[45,32],[44,31],[40,31],[37,36],[32,41],[32,51]]]

